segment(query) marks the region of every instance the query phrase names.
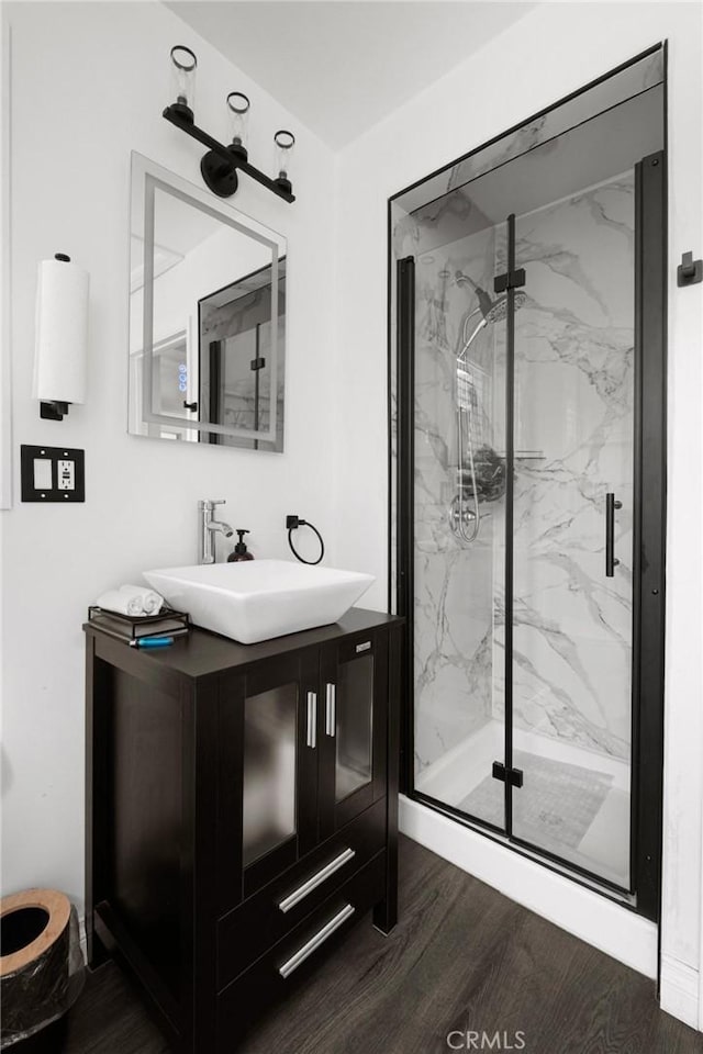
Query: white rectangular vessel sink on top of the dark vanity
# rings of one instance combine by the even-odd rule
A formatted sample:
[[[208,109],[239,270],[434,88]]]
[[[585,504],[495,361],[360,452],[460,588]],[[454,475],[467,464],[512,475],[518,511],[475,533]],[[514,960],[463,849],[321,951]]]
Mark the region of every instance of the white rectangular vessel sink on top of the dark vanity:
[[[243,644],[336,623],[376,581],[288,560],[160,568],[144,578],[196,626]]]

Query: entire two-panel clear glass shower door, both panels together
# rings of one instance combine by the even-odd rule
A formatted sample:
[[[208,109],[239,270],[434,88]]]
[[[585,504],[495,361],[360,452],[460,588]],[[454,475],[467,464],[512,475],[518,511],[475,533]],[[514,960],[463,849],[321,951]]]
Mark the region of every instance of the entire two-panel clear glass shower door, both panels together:
[[[625,890],[634,242],[629,170],[414,262],[416,790]]]

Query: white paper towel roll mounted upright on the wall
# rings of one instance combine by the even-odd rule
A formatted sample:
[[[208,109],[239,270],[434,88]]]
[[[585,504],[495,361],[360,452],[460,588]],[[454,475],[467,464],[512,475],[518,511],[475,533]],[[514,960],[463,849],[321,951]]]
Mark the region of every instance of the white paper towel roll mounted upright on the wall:
[[[76,264],[40,264],[34,399],[86,402],[89,283],[88,272]]]

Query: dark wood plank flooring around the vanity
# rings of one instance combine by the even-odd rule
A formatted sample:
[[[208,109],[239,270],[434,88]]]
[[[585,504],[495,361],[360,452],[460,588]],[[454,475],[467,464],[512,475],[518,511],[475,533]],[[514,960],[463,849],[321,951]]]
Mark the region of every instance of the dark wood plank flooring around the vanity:
[[[703,1035],[659,1010],[652,982],[408,839],[393,933],[361,922],[243,1054],[446,1054],[453,1030],[488,1033],[483,1050],[525,1054],[703,1054]],[[89,977],[52,1054],[168,1050],[109,963]]]

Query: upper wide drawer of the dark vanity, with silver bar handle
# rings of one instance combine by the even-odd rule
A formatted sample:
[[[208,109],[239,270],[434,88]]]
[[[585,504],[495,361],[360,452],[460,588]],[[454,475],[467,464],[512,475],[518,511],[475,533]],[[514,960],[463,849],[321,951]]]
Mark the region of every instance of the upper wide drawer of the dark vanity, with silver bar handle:
[[[386,798],[217,922],[217,989],[286,937],[386,843]]]

